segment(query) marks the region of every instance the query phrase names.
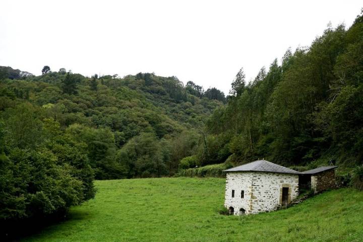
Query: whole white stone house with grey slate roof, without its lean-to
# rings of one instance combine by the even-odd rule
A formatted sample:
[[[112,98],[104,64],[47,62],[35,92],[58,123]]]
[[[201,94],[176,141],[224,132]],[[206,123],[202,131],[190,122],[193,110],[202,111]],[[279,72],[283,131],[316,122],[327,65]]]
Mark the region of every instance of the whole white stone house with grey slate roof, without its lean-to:
[[[231,214],[275,210],[298,196],[299,172],[266,160],[227,170],[224,206]]]

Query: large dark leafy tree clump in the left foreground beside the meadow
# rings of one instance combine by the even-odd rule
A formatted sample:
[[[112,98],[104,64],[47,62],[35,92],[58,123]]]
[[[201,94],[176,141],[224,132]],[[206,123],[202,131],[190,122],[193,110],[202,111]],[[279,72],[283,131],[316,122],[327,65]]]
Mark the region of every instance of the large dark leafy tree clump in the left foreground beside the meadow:
[[[70,206],[94,197],[94,171],[88,157],[75,141],[61,135],[58,122],[41,121],[41,110],[30,103],[2,114],[0,237],[11,232],[17,221],[62,217]]]

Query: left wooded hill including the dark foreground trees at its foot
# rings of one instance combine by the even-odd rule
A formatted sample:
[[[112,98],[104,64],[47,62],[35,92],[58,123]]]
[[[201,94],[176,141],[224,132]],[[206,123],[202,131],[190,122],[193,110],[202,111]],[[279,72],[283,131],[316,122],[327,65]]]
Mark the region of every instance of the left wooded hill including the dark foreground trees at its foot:
[[[151,73],[0,67],[0,237],[20,221],[64,217],[94,197],[94,178],[173,175],[224,101],[215,88]]]

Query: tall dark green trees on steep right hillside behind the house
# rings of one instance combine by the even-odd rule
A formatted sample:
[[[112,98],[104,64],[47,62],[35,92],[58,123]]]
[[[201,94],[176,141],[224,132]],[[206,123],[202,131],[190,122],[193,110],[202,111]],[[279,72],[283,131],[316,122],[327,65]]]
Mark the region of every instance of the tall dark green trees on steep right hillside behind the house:
[[[329,27],[309,48],[286,51],[279,66],[246,85],[241,69],[227,105],[206,123],[201,164],[265,158],[282,165],[363,159],[363,23]]]

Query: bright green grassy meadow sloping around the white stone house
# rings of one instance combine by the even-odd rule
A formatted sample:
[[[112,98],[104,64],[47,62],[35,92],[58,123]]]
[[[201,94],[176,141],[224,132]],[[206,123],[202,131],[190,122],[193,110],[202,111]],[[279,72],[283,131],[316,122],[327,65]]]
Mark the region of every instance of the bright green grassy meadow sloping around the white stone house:
[[[362,241],[363,193],[326,192],[287,210],[217,213],[222,178],[96,181],[98,194],[71,219],[24,241]]]

